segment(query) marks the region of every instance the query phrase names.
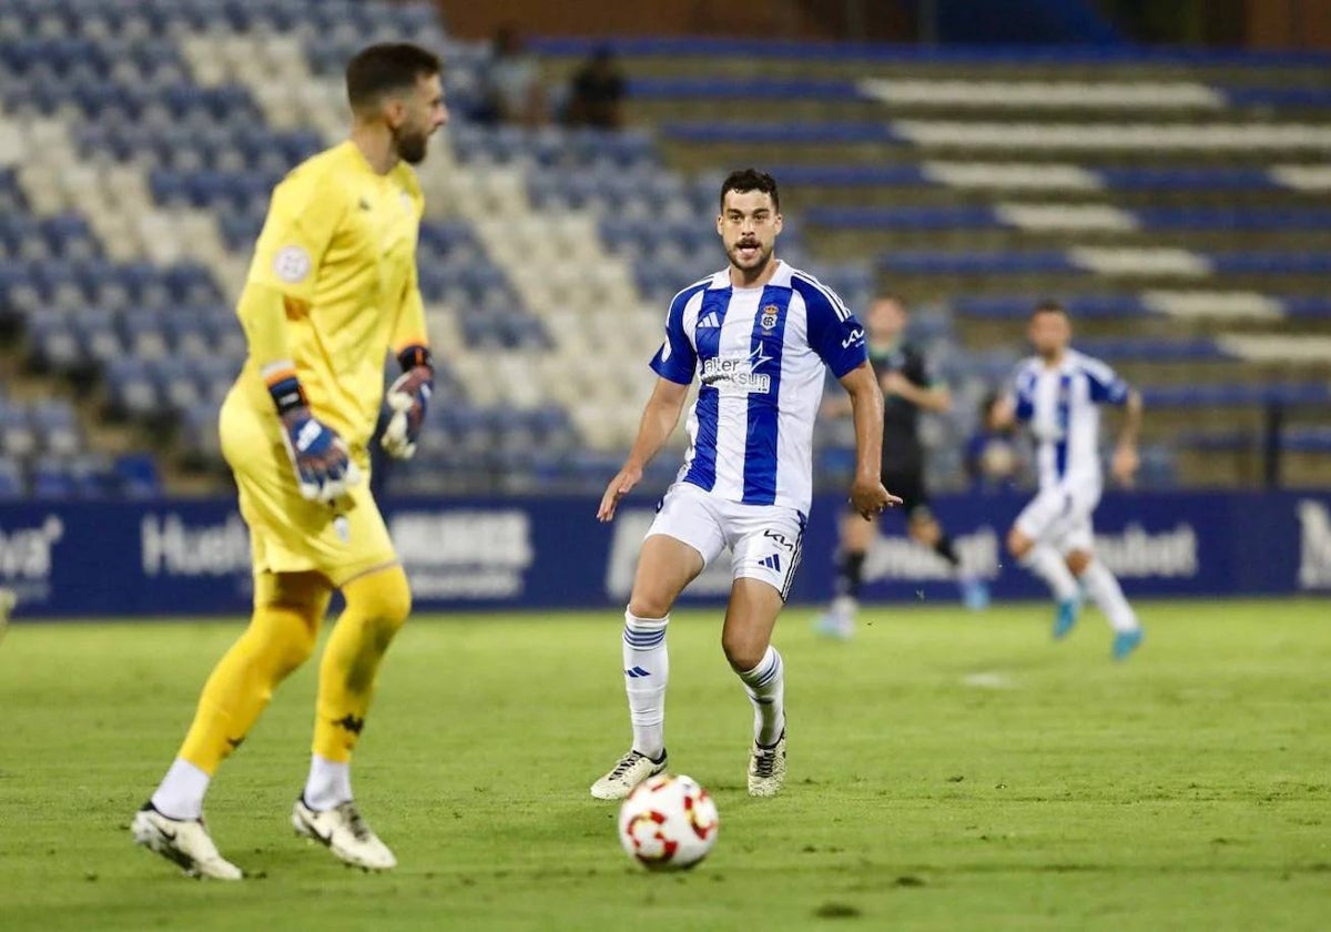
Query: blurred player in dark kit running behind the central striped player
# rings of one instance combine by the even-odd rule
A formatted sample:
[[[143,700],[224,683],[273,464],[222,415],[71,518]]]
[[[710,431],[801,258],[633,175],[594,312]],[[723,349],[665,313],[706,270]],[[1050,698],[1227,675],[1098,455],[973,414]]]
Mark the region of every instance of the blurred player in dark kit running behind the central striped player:
[[[962,569],[952,538],[929,509],[920,413],[946,413],[952,407],[952,395],[945,385],[934,383],[924,354],[905,342],[908,320],[905,301],[894,294],[874,300],[865,316],[869,361],[884,397],[882,482],[901,497],[910,537],[952,565],[964,602],[969,608],[980,610],[989,604],[989,588]],[[828,405],[832,407],[839,402],[833,399]],[[876,533],[877,522],[865,522],[858,515],[843,519],[836,598],[819,618],[819,632],[833,638],[849,638],[855,632],[865,555]]]

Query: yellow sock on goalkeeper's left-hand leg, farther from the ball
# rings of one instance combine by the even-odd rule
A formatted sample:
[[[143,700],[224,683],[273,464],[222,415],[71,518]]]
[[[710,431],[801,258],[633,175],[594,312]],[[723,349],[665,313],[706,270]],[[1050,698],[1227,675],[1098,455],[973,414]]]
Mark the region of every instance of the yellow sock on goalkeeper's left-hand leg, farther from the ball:
[[[256,577],[254,615],[204,684],[182,759],[212,775],[240,747],[273,688],[314,651],[330,594],[313,573]]]

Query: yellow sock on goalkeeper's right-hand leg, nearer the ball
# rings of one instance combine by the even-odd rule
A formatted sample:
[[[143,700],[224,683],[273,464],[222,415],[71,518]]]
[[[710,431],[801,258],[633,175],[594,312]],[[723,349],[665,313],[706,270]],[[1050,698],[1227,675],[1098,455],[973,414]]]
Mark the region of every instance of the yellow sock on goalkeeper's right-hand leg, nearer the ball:
[[[379,662],[411,611],[411,588],[401,566],[359,577],[342,587],[346,608],[319,662],[314,754],[346,763],[365,727]],[[311,776],[313,779],[313,776]]]

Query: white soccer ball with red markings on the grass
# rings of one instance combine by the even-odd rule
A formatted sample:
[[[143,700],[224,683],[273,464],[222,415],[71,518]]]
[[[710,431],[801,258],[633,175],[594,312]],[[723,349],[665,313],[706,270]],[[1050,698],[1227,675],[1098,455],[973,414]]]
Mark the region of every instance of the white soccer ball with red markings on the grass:
[[[688,776],[639,783],[619,810],[619,841],[650,871],[685,871],[716,844],[716,803]]]

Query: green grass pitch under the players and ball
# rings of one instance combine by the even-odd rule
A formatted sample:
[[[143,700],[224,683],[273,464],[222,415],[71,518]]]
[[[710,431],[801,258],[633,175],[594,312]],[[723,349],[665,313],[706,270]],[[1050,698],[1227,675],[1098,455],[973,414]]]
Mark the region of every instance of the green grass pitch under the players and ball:
[[[587,786],[627,743],[616,612],[415,619],[355,767],[401,868],[294,837],[314,670],[222,768],[209,821],[254,879],[182,879],[126,825],[238,623],[17,626],[0,644],[0,928],[1278,929],[1331,923],[1331,612],[1149,603],[1109,660],[1044,606],[779,628],[791,776],[751,800],[716,612],[671,626],[672,766],[712,856],[648,875]]]

